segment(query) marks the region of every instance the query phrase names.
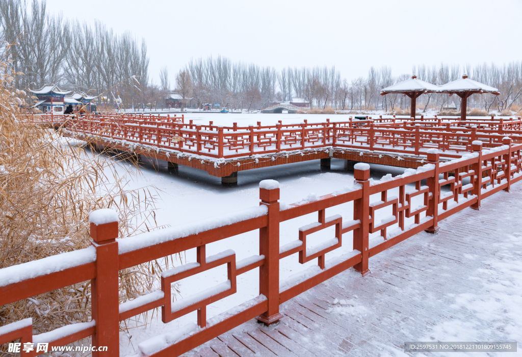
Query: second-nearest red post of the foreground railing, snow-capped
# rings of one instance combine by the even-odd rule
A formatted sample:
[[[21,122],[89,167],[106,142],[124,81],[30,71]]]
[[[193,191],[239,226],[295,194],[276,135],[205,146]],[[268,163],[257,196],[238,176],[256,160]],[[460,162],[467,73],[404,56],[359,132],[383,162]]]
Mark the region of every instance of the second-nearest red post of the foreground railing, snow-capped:
[[[259,182],[260,204],[268,208],[268,224],[259,229],[259,255],[265,256],[265,264],[259,267],[259,294],[268,300],[268,311],[257,320],[265,325],[279,321],[279,182]]]

